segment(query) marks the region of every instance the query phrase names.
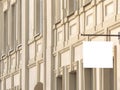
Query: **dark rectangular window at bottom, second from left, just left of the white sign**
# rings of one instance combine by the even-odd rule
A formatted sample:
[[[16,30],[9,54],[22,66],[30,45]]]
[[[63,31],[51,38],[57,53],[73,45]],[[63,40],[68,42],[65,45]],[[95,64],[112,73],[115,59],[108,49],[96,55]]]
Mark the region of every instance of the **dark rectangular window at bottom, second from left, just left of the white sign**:
[[[71,72],[69,74],[69,90],[77,90],[76,72]]]

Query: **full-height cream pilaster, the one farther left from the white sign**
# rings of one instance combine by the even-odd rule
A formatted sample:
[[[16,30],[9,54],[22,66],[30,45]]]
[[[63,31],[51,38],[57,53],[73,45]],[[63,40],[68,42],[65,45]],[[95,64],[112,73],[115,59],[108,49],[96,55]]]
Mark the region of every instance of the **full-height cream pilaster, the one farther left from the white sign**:
[[[22,90],[29,90],[28,84],[28,1],[22,0]]]

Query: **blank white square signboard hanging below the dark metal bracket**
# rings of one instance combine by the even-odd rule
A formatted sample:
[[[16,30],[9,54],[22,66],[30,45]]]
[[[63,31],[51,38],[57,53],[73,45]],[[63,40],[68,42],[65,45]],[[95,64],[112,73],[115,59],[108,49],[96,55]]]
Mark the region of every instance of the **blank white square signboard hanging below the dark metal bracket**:
[[[84,68],[113,68],[113,43],[106,41],[83,42]]]

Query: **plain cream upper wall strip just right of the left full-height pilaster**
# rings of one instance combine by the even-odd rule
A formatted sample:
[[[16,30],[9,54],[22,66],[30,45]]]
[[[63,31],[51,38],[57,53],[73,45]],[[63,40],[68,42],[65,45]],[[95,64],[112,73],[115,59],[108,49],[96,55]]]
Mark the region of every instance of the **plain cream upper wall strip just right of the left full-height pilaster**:
[[[34,0],[29,0],[29,39],[34,35]]]

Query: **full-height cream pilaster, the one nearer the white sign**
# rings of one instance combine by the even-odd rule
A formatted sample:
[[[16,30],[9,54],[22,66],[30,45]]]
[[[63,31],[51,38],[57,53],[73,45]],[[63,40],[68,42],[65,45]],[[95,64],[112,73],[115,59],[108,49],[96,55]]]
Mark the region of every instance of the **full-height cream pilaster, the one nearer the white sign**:
[[[53,48],[53,30],[52,30],[52,0],[46,0],[47,7],[47,33],[46,33],[46,90],[52,89],[52,81],[53,81],[53,56],[52,56],[52,48]]]

